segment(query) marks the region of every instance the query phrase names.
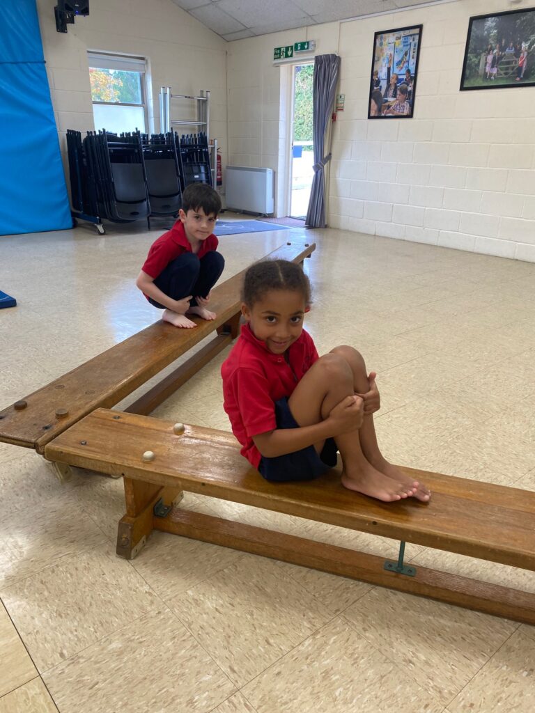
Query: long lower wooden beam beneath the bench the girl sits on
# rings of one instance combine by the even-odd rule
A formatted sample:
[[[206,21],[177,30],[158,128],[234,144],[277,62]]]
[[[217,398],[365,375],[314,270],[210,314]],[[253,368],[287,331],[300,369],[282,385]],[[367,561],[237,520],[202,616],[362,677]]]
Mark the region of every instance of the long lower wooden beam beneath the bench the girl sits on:
[[[342,577],[420,595],[479,612],[535,624],[535,595],[417,565],[414,576],[384,569],[377,555],[244,525],[212,515],[175,510],[155,529],[263,555]]]

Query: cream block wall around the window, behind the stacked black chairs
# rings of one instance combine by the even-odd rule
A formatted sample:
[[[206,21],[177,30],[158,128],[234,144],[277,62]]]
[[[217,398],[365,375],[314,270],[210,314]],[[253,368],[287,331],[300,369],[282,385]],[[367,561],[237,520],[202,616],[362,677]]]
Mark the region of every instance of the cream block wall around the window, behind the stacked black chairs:
[[[46,71],[65,159],[68,128],[93,130],[88,50],[148,58],[151,128],[160,130],[158,91],[198,96],[209,89],[210,136],[226,148],[226,48],[228,43],[171,0],[91,0],[88,17],[76,18],[67,34],[56,32],[56,0],[37,0]],[[193,102],[173,100],[175,118],[195,118]],[[180,116],[179,116],[180,115]],[[97,127],[101,128],[101,127]],[[180,127],[177,127],[180,133]],[[191,128],[184,128],[190,133]]]

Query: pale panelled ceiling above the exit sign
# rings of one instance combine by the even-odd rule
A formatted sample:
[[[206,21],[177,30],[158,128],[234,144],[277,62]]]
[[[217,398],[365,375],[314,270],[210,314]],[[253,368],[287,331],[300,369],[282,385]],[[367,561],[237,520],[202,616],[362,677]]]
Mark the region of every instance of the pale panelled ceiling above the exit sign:
[[[441,1],[173,0],[175,5],[228,41]]]

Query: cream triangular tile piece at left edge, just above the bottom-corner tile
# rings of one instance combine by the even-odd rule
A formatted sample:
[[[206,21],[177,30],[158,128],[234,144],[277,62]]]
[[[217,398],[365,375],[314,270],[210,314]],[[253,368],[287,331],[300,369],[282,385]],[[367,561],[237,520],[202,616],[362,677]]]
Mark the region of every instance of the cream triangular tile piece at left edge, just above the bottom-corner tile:
[[[36,667],[0,602],[0,711],[1,696],[37,676]]]

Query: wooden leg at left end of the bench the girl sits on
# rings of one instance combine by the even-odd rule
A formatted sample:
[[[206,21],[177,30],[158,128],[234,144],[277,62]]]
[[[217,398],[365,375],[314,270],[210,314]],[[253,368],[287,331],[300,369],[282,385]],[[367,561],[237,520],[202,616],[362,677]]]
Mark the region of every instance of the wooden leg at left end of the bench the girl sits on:
[[[119,520],[116,552],[119,557],[133,560],[154,529],[156,503],[160,499],[164,503],[176,503],[181,499],[182,491],[124,478],[124,492],[126,515]]]

